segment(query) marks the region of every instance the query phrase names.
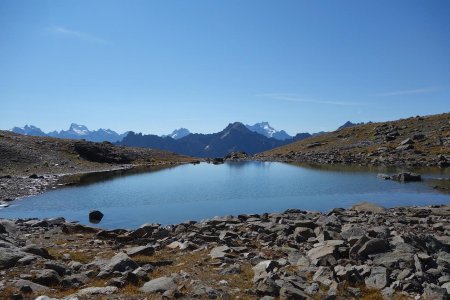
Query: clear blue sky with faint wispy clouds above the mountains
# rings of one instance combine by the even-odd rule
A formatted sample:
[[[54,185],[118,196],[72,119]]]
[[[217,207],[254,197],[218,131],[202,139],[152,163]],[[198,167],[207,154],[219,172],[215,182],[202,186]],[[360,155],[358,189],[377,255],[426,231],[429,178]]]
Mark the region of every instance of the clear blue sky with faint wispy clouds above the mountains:
[[[290,134],[450,111],[450,1],[0,1],[0,128]]]

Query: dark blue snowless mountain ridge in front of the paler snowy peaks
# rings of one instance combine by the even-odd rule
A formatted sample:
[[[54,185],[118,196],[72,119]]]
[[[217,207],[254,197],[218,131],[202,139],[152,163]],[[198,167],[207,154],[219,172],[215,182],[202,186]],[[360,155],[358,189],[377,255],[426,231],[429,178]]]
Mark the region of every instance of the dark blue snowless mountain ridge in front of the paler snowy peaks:
[[[158,148],[195,157],[223,157],[234,151],[254,154],[284,145],[286,142],[267,138],[236,122],[217,133],[189,134],[177,140],[170,137],[130,133],[119,144]]]

